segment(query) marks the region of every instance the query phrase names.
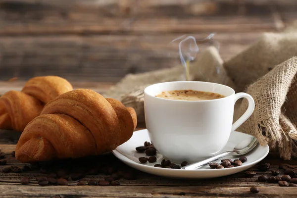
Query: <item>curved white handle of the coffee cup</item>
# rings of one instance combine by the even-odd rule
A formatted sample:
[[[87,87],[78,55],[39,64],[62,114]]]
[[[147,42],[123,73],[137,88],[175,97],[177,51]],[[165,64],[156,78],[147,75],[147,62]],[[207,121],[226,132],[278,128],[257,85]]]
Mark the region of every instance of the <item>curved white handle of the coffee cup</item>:
[[[233,123],[231,132],[235,131],[240,125],[242,125],[247,120],[247,118],[249,118],[249,116],[251,116],[251,114],[255,108],[255,102],[254,102],[253,98],[249,94],[242,93],[242,92],[235,94],[234,104],[236,103],[236,101],[238,99],[241,99],[241,98],[247,99],[248,107],[247,107],[246,112],[238,120],[236,120]]]

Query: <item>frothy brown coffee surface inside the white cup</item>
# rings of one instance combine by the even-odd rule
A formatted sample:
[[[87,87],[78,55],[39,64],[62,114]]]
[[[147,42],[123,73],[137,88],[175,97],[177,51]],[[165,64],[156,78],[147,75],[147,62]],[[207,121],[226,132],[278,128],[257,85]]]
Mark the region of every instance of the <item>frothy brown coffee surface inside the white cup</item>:
[[[193,90],[174,90],[165,91],[155,97],[163,99],[175,99],[175,100],[211,100],[211,99],[221,99],[225,96],[212,93],[212,92],[201,92]]]

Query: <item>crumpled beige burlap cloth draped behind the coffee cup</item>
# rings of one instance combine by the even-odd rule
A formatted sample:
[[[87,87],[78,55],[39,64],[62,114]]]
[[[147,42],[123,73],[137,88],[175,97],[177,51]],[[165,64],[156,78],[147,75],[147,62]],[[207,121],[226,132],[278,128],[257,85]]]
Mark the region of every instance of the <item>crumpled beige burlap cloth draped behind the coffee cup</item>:
[[[296,56],[295,56],[296,55]],[[220,71],[218,74],[217,71]],[[255,110],[238,131],[269,144],[284,159],[297,156],[297,31],[264,33],[248,49],[223,62],[214,47],[206,49],[191,67],[191,80],[225,84],[246,92],[255,100]],[[120,99],[144,118],[144,88],[148,85],[185,80],[180,65],[143,74],[127,75],[105,97]],[[247,101],[236,103],[234,119],[247,109]]]

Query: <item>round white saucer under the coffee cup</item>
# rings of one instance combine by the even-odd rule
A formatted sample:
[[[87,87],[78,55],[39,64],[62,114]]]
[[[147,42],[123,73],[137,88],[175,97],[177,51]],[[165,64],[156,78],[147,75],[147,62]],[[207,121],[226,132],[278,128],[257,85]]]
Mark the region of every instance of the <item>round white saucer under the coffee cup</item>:
[[[230,136],[227,146],[222,150],[222,152],[226,150],[232,150],[239,142],[250,137],[251,137],[250,135],[247,135],[241,132],[233,132]],[[146,141],[150,141],[147,129],[135,131],[129,141],[120,145],[112,152],[117,158],[119,158],[125,164],[135,169],[138,169],[140,171],[147,172],[153,175],[170,177],[170,178],[179,178],[179,179],[206,179],[206,178],[221,177],[221,176],[238,173],[257,164],[269,152],[269,147],[267,145],[263,147],[257,145],[251,152],[245,155],[247,157],[247,161],[243,163],[242,166],[237,166],[233,168],[211,169],[209,165],[205,165],[197,170],[167,169],[167,168],[153,167],[154,164],[161,163],[163,156],[160,153],[157,153],[156,155],[157,161],[155,163],[147,162],[145,164],[142,164],[139,162],[138,158],[142,156],[146,156],[146,154],[137,152],[135,148],[139,146],[143,146],[144,142]],[[239,157],[227,156],[224,158],[237,159]],[[220,163],[220,160],[218,160],[217,162]]]

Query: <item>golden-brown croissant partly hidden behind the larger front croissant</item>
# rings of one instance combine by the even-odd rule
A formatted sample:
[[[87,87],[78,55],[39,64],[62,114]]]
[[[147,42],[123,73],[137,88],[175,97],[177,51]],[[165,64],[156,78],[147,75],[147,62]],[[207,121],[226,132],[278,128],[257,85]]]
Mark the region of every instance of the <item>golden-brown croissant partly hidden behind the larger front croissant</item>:
[[[22,132],[49,100],[71,90],[71,84],[58,76],[31,78],[21,92],[9,91],[0,97],[0,129]]]

